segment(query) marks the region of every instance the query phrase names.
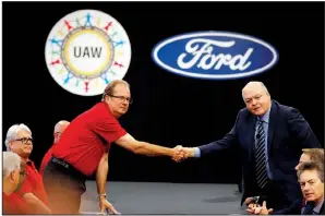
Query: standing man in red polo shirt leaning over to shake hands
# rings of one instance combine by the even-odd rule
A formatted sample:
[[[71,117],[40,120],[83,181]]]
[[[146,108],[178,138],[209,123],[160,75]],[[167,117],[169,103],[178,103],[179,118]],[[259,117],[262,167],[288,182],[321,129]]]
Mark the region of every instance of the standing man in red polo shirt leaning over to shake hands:
[[[106,200],[108,152],[116,143],[135,154],[169,156],[178,161],[182,157],[179,148],[140,142],[119,123],[119,119],[132,103],[130,86],[116,80],[105,88],[103,99],[87,111],[77,116],[67,128],[52,158],[44,171],[45,188],[50,208],[55,214],[77,214],[81,195],[85,192],[85,180],[96,171],[100,212],[118,214]]]

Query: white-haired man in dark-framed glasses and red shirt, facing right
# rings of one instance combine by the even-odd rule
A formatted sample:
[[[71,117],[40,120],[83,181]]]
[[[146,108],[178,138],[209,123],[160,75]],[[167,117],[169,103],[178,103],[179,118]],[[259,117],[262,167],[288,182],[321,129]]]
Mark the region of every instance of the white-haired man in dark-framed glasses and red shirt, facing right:
[[[25,124],[14,124],[8,130],[4,143],[9,152],[21,157],[22,167],[24,167],[25,179],[20,190],[14,193],[28,204],[28,208],[34,211],[31,214],[50,214],[43,178],[29,159],[33,151],[32,131]]]

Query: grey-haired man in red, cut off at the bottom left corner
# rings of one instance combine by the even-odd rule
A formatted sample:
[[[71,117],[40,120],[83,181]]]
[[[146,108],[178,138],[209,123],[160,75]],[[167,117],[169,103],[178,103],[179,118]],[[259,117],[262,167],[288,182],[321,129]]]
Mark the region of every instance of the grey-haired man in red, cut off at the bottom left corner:
[[[3,214],[28,214],[27,205],[13,191],[17,188],[21,171],[21,157],[12,152],[2,155],[2,207]]]

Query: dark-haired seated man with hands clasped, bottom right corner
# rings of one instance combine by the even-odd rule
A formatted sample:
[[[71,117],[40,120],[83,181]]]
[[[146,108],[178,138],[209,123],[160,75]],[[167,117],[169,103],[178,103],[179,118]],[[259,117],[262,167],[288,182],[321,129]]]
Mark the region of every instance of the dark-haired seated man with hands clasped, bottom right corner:
[[[324,215],[324,164],[302,163],[297,172],[303,199],[298,199],[291,206],[274,212],[275,215]],[[255,207],[254,214],[268,215],[266,202]]]

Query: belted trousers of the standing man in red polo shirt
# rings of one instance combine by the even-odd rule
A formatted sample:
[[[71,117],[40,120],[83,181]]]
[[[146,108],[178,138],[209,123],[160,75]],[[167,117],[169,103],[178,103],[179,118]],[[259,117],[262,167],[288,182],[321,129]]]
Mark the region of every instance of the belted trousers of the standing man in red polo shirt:
[[[79,214],[86,177],[68,163],[52,157],[44,171],[44,187],[52,214]]]

